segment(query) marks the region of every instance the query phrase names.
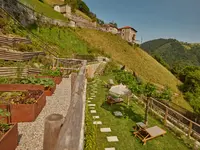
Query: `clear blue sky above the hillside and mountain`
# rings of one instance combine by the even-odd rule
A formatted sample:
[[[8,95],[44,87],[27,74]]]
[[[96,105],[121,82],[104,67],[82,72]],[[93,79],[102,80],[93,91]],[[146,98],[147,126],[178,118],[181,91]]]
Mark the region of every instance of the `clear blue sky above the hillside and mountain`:
[[[200,0],[84,0],[105,22],[132,26],[137,40],[175,38],[200,43]]]

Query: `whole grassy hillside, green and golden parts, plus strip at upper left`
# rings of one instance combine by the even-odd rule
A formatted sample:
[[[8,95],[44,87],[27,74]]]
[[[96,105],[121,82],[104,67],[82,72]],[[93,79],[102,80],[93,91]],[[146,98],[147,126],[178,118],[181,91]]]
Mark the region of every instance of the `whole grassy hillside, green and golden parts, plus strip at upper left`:
[[[20,0],[37,12],[58,19],[61,14],[53,13],[53,8],[47,3],[35,0]],[[40,9],[40,6],[44,6]],[[47,9],[48,8],[48,9]],[[55,12],[55,11],[54,11]],[[143,81],[154,83],[159,87],[168,86],[177,96],[173,102],[191,110],[189,103],[183,99],[177,85],[181,82],[164,66],[139,47],[128,44],[120,36],[98,30],[83,28],[63,28],[59,26],[30,26],[34,34],[51,46],[60,57],[70,57],[74,54],[104,55],[134,71]],[[24,32],[24,31],[21,31]],[[53,37],[53,38],[52,38]]]

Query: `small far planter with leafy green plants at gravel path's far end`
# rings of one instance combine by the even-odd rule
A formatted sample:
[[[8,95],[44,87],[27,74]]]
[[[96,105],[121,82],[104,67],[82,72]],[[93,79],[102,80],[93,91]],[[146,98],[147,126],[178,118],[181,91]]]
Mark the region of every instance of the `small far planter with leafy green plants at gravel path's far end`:
[[[62,81],[62,72],[60,68],[57,68],[55,70],[43,70],[41,74],[39,74],[37,77],[51,78],[56,84],[60,84],[60,82]]]

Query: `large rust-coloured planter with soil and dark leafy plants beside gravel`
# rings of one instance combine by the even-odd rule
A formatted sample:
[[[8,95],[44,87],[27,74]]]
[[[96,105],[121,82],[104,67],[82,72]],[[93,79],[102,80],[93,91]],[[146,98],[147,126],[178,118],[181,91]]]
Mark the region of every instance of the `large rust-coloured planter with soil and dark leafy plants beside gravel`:
[[[8,123],[34,121],[46,104],[46,96],[41,90],[4,91],[7,92],[0,92],[0,108],[10,112],[4,120]]]

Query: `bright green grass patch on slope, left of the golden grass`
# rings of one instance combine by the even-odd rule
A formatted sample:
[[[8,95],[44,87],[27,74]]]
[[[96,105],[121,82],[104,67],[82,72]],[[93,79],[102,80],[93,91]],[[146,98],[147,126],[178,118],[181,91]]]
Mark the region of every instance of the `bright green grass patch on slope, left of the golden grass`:
[[[37,29],[32,31],[40,36],[49,45],[55,47],[55,51],[61,54],[60,57],[71,56],[72,54],[88,54],[91,51],[88,44],[77,37],[71,28],[42,27],[40,32]]]

